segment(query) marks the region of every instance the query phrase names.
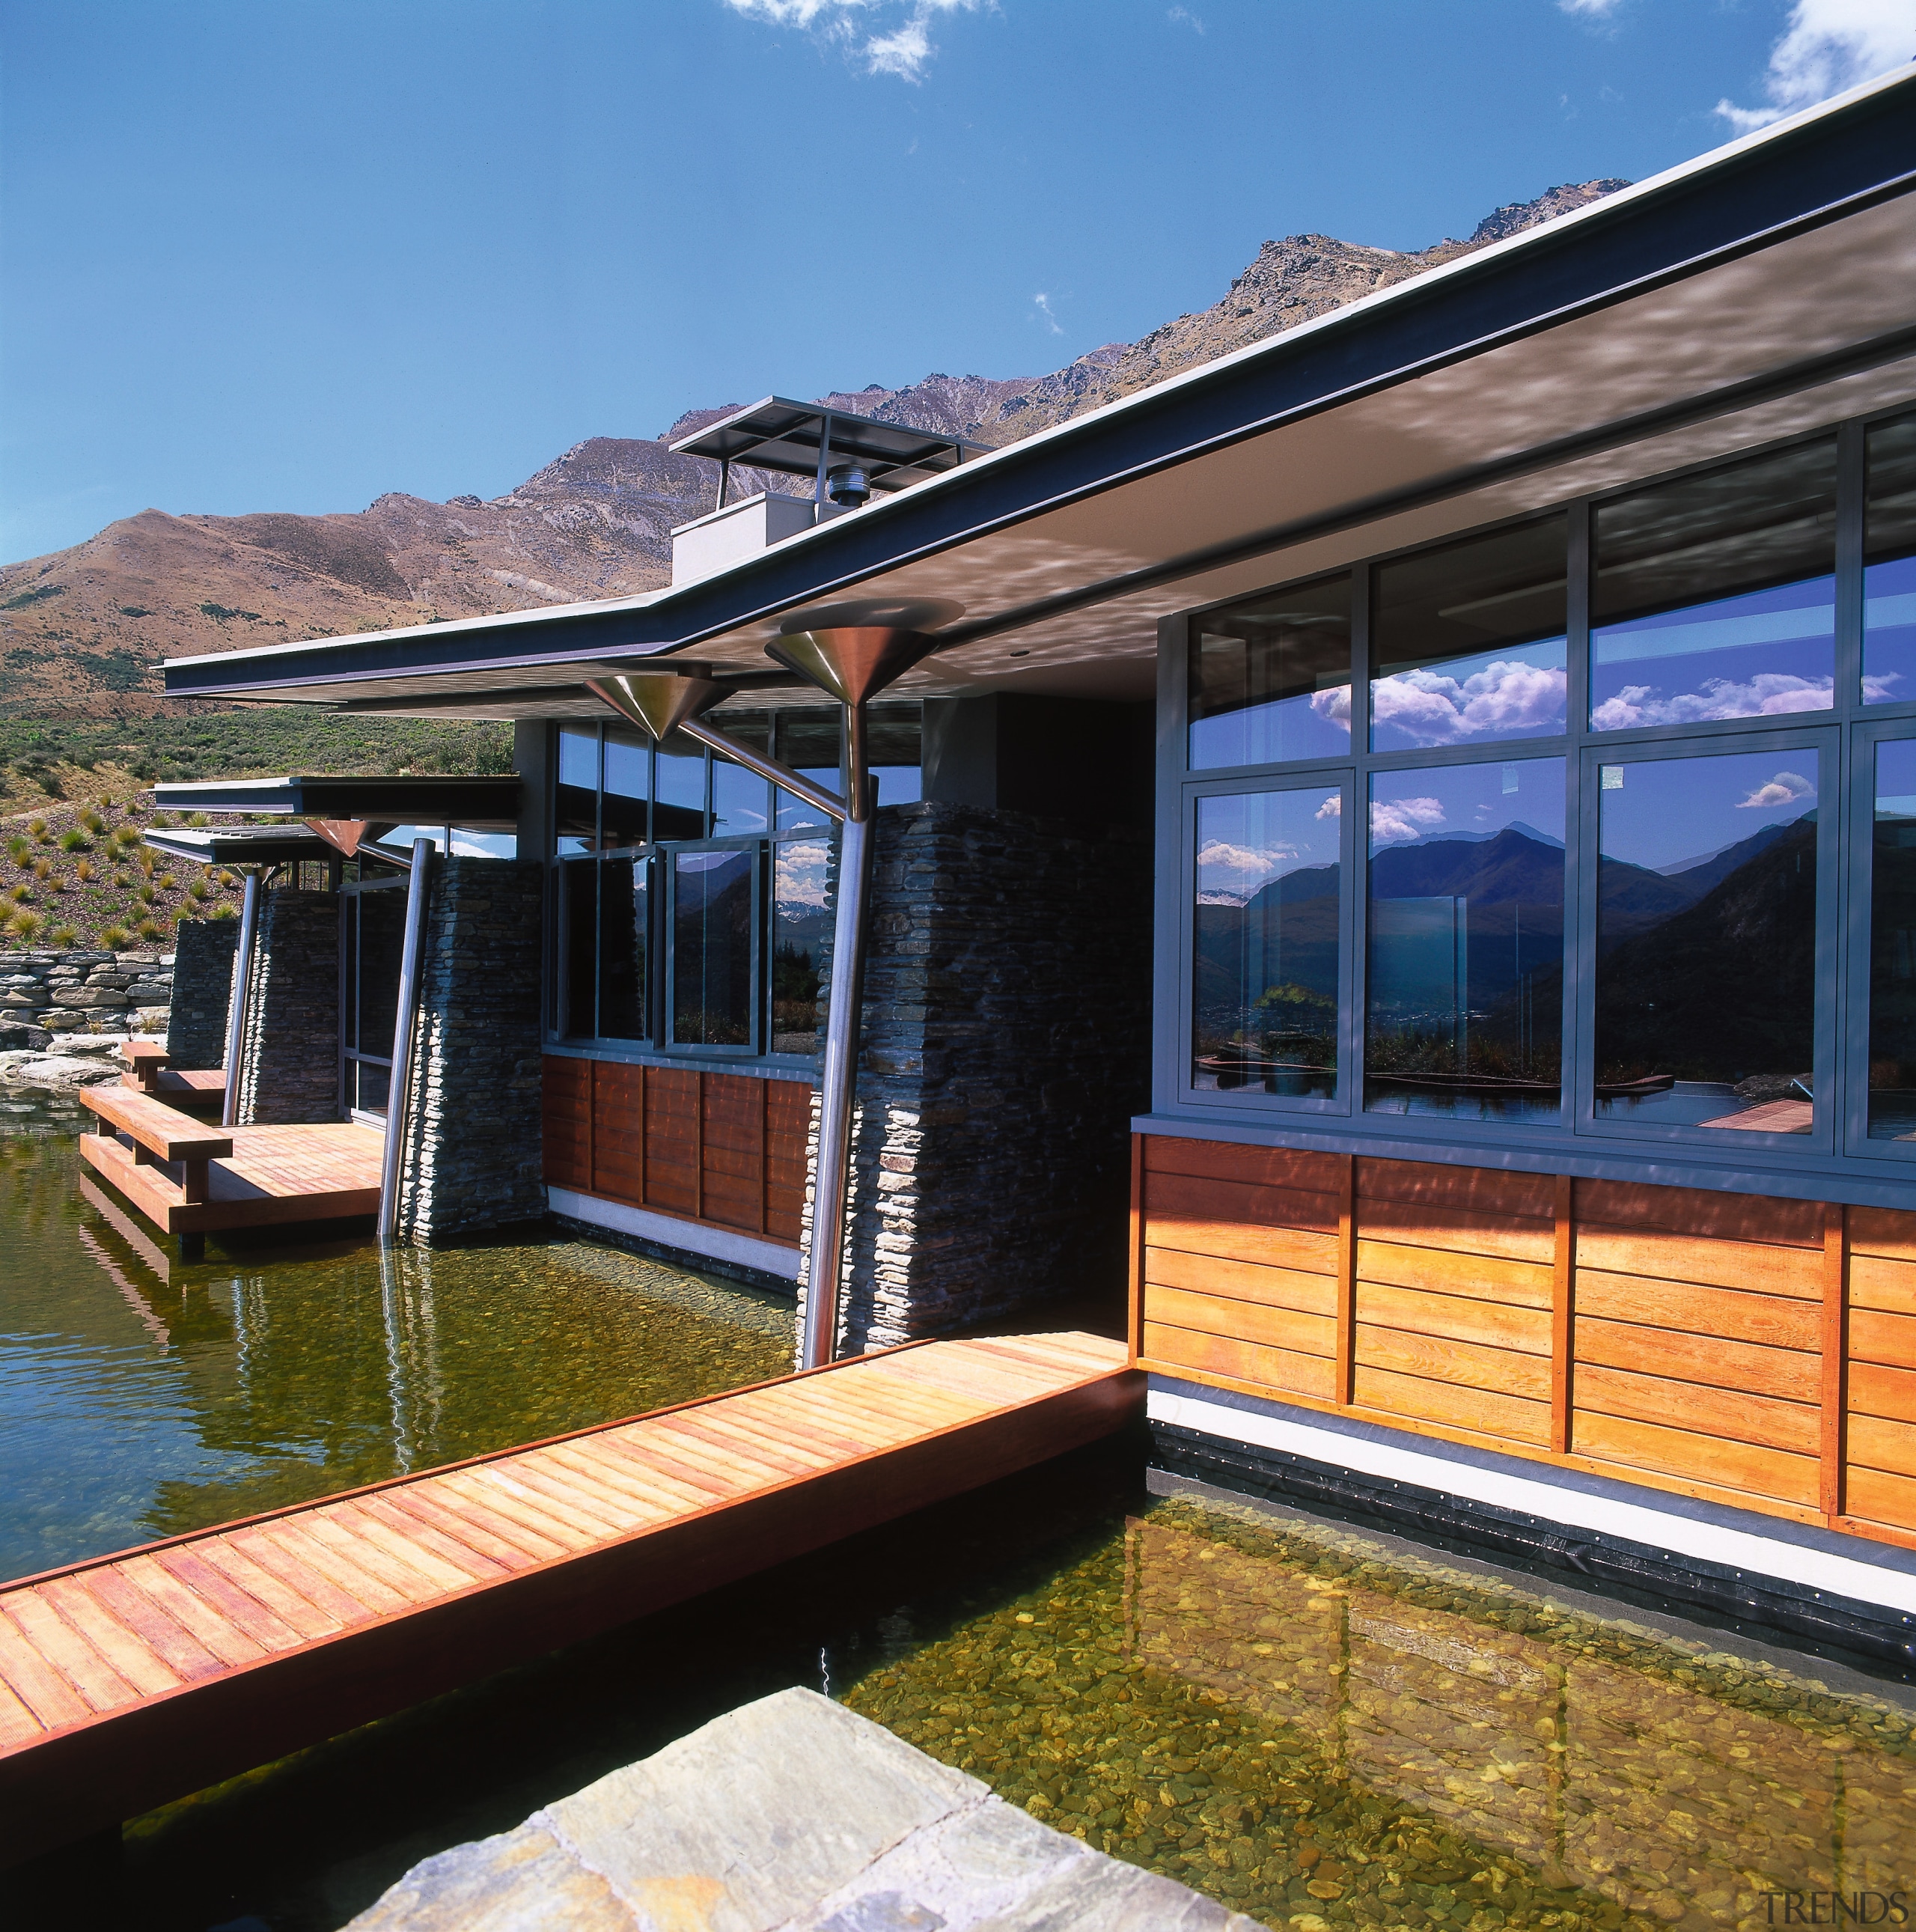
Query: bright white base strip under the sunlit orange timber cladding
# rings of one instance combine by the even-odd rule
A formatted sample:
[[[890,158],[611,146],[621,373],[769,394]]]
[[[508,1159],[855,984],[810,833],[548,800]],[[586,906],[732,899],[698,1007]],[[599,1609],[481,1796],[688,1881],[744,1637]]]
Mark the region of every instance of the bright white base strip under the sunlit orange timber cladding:
[[[1221,1443],[1252,1443],[1259,1449],[1279,1449],[1284,1455],[1310,1457],[1335,1468],[1381,1476],[1389,1482],[1408,1482],[1441,1495],[1493,1503],[1497,1509],[1543,1517],[1601,1536],[1667,1549],[1671,1555],[1700,1557],[1727,1569],[1756,1571],[1796,1586],[1808,1584],[1829,1596],[1854,1598],[1860,1604],[1879,1604],[1889,1609],[1916,1613],[1916,1577],[1856,1557],[1833,1555],[1825,1549],[1806,1549],[1754,1530],[1705,1522],[1675,1511],[1657,1509],[1651,1501],[1620,1501],[1593,1495],[1541,1476],[1516,1476],[1478,1463],[1451,1459],[1431,1447],[1412,1449],[1406,1443],[1377,1441],[1369,1434],[1346,1435],[1340,1430],[1313,1428],[1284,1416],[1236,1408],[1226,1403],[1205,1403],[1169,1389],[1153,1389],[1149,1416],[1172,1428],[1194,1430]],[[1646,1492],[1648,1495],[1648,1492]]]

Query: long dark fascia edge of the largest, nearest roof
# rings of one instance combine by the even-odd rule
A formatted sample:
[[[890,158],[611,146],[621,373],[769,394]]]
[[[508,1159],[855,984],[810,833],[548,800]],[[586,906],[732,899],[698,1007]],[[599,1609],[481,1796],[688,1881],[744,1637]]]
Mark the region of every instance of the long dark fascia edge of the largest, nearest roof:
[[[317,641],[247,661],[166,668],[168,696],[243,694],[299,684],[695,649],[744,624],[863,583],[991,529],[1261,435],[1468,359],[1503,342],[1595,313],[1659,284],[1760,251],[1916,185],[1916,77],[1709,168],[1680,172],[1620,207],[1595,203],[1563,230],[1487,257],[1464,257],[1358,307],[1335,327],[1279,334],[1252,354],[1141,390],[1064,431],[960,464],[877,514],[834,520],[803,545],[637,609],[581,609],[483,632],[400,632],[363,643]],[[954,632],[954,641],[962,628]],[[238,672],[238,676],[236,676]]]

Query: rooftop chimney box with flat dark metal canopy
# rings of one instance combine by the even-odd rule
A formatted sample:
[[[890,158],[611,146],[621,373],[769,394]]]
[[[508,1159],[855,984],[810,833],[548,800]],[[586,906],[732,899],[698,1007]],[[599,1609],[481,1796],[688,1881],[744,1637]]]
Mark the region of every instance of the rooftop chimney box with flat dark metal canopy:
[[[697,583],[744,556],[784,543],[813,524],[861,510],[873,491],[906,489],[979,456],[983,442],[943,437],[910,423],[881,423],[790,396],[767,396],[734,410],[672,452],[718,464],[718,500],[707,516],[672,531],[672,583]],[[732,466],[811,477],[809,497],[759,491],[726,502]]]

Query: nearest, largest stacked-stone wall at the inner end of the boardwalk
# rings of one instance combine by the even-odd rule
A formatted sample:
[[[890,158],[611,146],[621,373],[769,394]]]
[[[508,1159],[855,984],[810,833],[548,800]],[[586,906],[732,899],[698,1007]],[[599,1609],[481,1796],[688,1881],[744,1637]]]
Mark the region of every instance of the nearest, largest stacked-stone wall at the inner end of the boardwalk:
[[[848,1352],[1116,1293],[1149,1101],[1149,900],[1136,827],[879,813]]]

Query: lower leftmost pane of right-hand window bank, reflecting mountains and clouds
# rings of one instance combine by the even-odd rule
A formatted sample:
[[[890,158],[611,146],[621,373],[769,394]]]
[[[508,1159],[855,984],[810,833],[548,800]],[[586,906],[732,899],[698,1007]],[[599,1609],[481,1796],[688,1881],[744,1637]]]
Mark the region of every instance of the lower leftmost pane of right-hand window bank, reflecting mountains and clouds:
[[[1337,1094],[1342,792],[1198,800],[1192,1086]]]

